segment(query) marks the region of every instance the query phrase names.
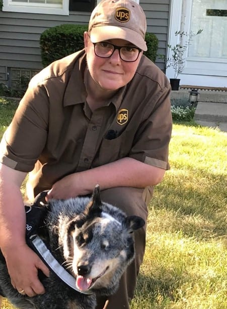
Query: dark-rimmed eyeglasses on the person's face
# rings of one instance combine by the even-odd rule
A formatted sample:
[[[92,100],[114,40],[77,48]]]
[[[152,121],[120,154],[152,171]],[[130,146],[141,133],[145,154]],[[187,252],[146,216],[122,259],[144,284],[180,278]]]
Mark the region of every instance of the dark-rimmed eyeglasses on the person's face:
[[[101,58],[110,58],[115,49],[119,50],[121,60],[126,62],[134,62],[138,59],[139,53],[142,51],[134,46],[116,46],[107,42],[98,42],[94,44],[94,51],[96,56]]]

